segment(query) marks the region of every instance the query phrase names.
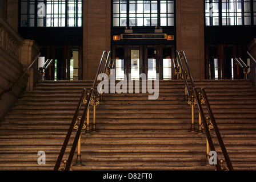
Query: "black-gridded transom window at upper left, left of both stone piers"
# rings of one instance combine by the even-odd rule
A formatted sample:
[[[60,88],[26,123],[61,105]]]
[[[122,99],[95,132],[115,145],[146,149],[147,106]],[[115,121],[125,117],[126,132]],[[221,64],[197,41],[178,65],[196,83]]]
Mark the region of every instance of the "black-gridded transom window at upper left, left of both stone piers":
[[[21,0],[21,27],[81,27],[82,0]]]

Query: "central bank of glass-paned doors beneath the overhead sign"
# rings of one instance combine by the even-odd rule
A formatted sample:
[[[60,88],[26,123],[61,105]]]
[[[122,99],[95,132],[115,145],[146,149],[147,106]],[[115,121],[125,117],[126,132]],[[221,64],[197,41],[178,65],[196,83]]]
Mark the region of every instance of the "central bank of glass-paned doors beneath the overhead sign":
[[[172,59],[175,58],[175,46],[165,44],[113,45],[115,61],[115,80],[129,76],[138,80],[145,73],[148,80],[155,80],[157,74],[161,80],[174,78]]]

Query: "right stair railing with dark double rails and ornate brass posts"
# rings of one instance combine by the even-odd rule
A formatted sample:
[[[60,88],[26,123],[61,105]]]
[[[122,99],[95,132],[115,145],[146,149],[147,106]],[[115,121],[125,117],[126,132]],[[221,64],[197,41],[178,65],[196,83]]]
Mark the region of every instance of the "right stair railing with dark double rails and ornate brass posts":
[[[186,71],[183,67],[182,64],[182,59],[183,62],[186,65]],[[206,92],[204,88],[201,88],[201,92],[197,91],[197,88],[195,87],[194,84],[194,80],[193,77],[191,76],[191,72],[189,69],[189,65],[187,63],[187,59],[185,56],[185,53],[183,51],[177,51],[177,61],[179,63],[179,67],[181,68],[181,74],[182,74],[182,78],[185,82],[185,95],[186,95],[186,101],[188,102],[188,104],[190,104],[192,106],[191,109],[191,115],[192,115],[192,123],[191,123],[191,131],[194,131],[194,105],[198,106],[198,110],[199,110],[199,124],[198,124],[198,132],[200,132],[200,130],[203,128],[205,129],[205,134],[206,134],[206,156],[209,157],[209,150],[211,151],[215,151],[215,147],[213,144],[213,139],[211,137],[210,134],[210,130],[214,129],[215,134],[217,136],[218,142],[219,142],[219,146],[221,147],[222,150],[222,154],[226,160],[227,166],[226,168],[223,167],[223,160],[217,160],[217,163],[214,164],[215,168],[217,171],[222,171],[222,170],[230,170],[233,171],[233,166],[231,164],[229,155],[227,154],[227,150],[225,147],[225,144],[223,143],[221,134],[219,133],[219,129],[217,126],[217,123],[215,122],[215,118],[213,115],[213,111],[211,110],[210,104],[209,104],[209,100],[206,96]],[[185,74],[185,72],[187,74]],[[190,85],[188,80],[190,80]],[[207,110],[208,110],[208,114],[210,115],[210,119],[208,117],[205,118],[205,114],[203,112],[203,108],[202,108],[202,103],[205,102],[206,106],[207,106]],[[206,158],[209,159],[209,158]],[[221,164],[220,164],[221,162]]]

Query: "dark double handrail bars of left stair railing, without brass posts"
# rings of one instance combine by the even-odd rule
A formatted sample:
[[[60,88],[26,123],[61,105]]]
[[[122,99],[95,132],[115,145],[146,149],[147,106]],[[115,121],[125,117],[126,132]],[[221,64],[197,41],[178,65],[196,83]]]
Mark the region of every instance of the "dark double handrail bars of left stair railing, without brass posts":
[[[101,61],[99,63],[98,71],[97,71],[97,74],[96,74],[94,82],[93,82],[93,87],[91,88],[89,96],[87,97],[87,102],[86,102],[85,109],[83,110],[81,122],[79,123],[78,129],[77,129],[77,134],[75,135],[74,142],[72,144],[72,147],[71,147],[71,150],[70,150],[70,153],[69,153],[69,158],[67,159],[67,162],[66,162],[66,165],[65,165],[65,171],[69,171],[69,169],[71,167],[71,163],[72,163],[72,160],[73,160],[73,157],[74,157],[75,149],[77,148],[78,140],[79,140],[79,138],[81,136],[81,133],[82,133],[83,125],[85,123],[85,119],[86,119],[87,112],[89,110],[91,99],[93,97],[93,94],[96,97],[98,95],[98,93],[95,90],[95,85],[96,85],[96,82],[97,82],[97,77],[99,75],[99,72],[101,71],[103,60],[105,59],[106,54],[107,54],[107,60],[106,60],[106,62],[107,62],[109,60],[110,53],[111,53],[110,51],[109,52],[103,51],[103,54],[102,54],[102,57],[101,57]],[[105,71],[106,70],[104,70],[104,72]],[[68,131],[68,133],[66,135],[66,138],[65,138],[65,141],[63,142],[62,149],[61,149],[61,152],[59,153],[57,162],[55,163],[54,171],[57,171],[59,169],[59,167],[60,167],[61,160],[63,158],[63,155],[65,154],[65,150],[66,150],[67,144],[68,144],[68,142],[70,140],[71,133],[72,133],[73,127],[75,125],[75,119],[77,119],[77,116],[78,116],[79,110],[81,108],[81,104],[82,104],[82,100],[83,100],[84,96],[85,96],[85,90],[84,90],[84,92],[82,93],[82,95],[80,97],[79,104],[77,106],[77,110],[75,111],[75,115],[73,117],[73,121],[71,122],[71,125],[69,127],[69,131]]]

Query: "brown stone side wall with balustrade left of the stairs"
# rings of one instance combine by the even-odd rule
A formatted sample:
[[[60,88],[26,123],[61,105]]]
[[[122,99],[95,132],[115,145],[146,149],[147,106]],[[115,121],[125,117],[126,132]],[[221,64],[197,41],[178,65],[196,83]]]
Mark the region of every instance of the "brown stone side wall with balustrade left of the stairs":
[[[39,46],[33,40],[24,40],[9,23],[0,17],[0,93],[11,88],[38,52]],[[35,73],[36,70],[36,68],[31,68],[11,92],[2,96],[0,119],[3,119],[23,90],[33,89],[39,78],[38,73]]]

